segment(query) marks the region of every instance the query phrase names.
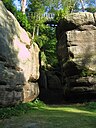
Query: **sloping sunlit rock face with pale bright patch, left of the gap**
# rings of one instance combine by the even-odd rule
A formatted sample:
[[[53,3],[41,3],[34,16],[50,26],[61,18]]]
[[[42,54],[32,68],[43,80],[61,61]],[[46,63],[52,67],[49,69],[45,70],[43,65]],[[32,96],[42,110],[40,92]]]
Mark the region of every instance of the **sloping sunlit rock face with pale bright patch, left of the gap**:
[[[39,48],[0,1],[0,105],[36,98],[38,78]]]

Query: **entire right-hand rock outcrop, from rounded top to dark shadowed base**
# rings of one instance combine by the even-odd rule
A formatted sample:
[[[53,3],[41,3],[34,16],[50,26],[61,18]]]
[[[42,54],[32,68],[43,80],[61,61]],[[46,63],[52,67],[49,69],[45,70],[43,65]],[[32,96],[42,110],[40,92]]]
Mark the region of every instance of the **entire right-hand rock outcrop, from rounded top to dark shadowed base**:
[[[92,71],[96,72],[96,14],[72,13],[59,21],[56,34],[64,93],[96,95],[96,83],[88,82],[87,78]],[[84,68],[91,72],[89,76],[85,75]]]

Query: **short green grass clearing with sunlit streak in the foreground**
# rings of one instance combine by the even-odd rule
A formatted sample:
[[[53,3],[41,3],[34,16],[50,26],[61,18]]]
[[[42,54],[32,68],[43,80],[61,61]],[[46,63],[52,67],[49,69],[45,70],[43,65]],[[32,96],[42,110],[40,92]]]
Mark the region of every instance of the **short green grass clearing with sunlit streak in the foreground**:
[[[0,120],[0,128],[96,128],[96,109],[83,104],[34,107]]]

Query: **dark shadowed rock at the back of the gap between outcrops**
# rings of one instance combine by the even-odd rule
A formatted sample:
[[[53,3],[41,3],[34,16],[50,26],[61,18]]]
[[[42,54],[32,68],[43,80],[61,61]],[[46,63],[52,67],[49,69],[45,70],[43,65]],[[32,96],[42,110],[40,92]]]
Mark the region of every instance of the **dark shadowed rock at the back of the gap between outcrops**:
[[[63,101],[63,89],[60,78],[55,71],[41,70],[40,79],[40,100],[47,104],[60,104]]]

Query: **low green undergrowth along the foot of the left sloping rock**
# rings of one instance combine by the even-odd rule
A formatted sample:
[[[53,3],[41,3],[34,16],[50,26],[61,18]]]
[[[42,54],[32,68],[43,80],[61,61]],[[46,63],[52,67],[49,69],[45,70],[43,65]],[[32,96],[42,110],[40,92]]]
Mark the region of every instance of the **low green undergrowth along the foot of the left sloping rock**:
[[[12,116],[20,116],[25,113],[29,113],[34,108],[42,108],[45,106],[46,105],[42,101],[36,99],[33,102],[21,103],[13,107],[0,108],[0,119],[10,118]]]

